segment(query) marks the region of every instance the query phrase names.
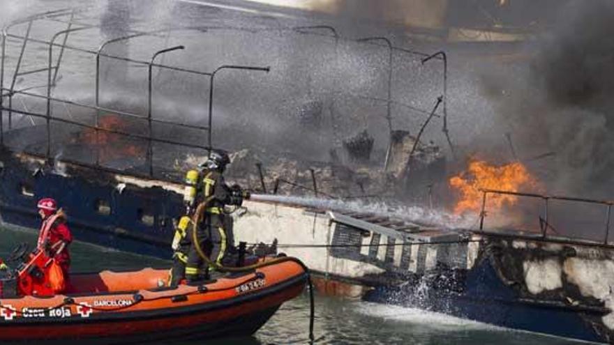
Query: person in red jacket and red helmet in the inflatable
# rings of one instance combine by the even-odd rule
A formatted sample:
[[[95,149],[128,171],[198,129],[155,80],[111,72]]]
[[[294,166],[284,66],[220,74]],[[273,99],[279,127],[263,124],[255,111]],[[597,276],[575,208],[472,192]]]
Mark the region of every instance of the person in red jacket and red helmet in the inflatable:
[[[38,201],[38,214],[43,219],[38,233],[39,250],[45,250],[47,254],[62,268],[62,273],[68,282],[68,270],[70,268],[70,253],[68,245],[73,242],[73,235],[66,226],[66,214],[61,208],[58,210],[57,202],[51,198]]]

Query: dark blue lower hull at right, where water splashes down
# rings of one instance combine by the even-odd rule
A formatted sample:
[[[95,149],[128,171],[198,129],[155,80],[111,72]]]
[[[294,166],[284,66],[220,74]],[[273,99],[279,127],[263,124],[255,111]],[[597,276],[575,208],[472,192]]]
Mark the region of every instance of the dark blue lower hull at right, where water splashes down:
[[[364,298],[515,330],[588,342],[610,342],[611,333],[599,325],[601,319],[611,313],[606,307],[523,297],[501,281],[489,260],[463,274],[463,281],[454,281],[458,277],[453,276],[450,272],[438,272],[419,279],[417,284],[379,286]],[[456,289],[435,282],[440,279],[454,281]]]

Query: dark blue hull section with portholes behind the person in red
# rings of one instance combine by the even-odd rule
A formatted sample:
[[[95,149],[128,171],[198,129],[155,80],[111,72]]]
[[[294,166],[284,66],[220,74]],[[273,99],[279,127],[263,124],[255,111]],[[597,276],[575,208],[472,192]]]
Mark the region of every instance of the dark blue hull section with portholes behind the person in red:
[[[137,187],[117,174],[73,168],[58,174],[42,161],[0,153],[0,216],[6,224],[38,229],[36,201],[57,199],[75,238],[126,252],[168,259],[173,219],[181,215],[181,195],[161,187]]]

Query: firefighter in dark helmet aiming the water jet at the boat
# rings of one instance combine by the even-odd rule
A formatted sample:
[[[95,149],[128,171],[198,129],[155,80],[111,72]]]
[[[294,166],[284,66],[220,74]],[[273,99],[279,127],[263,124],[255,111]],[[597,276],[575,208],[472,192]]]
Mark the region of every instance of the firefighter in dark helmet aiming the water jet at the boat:
[[[201,183],[197,188],[196,200],[205,203],[204,217],[200,224],[196,224],[196,236],[200,248],[204,254],[216,263],[222,264],[230,247],[232,233],[225,227],[227,220],[225,217],[224,206],[241,206],[244,198],[249,194],[243,192],[237,185],[229,187],[224,181],[224,170],[230,164],[230,158],[224,151],[214,150],[209,153],[209,159],[200,164],[202,172]],[[188,252],[188,262],[186,264],[186,279],[188,282],[195,282],[209,277],[209,267],[204,267],[204,262],[200,256],[195,243],[190,244]]]

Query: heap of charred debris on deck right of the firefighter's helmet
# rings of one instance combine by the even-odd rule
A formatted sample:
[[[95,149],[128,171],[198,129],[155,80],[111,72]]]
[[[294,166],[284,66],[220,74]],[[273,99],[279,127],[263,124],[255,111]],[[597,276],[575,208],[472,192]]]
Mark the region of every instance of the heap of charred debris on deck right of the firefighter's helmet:
[[[403,137],[400,140],[405,140],[404,144],[398,143],[398,137]],[[426,186],[442,181],[446,171],[444,155],[432,142],[419,144],[410,155],[411,148],[407,146],[413,145],[415,139],[405,131],[394,132],[392,138],[386,167],[381,161],[370,160],[373,138],[364,131],[344,141],[343,149],[331,150],[330,162],[304,161],[293,155],[271,158],[248,149],[237,151],[228,176],[264,193],[422,201],[412,196],[417,191],[424,194]],[[195,161],[197,158],[192,158],[189,163]]]

